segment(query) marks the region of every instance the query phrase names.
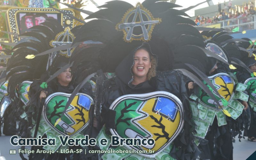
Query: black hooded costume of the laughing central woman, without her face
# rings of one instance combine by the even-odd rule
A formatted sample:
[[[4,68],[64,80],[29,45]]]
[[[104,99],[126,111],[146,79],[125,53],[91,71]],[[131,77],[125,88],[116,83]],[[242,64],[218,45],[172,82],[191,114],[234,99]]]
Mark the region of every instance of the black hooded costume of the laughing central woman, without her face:
[[[136,47],[136,49],[133,49],[130,54],[124,58],[124,60],[116,68],[116,76],[104,82],[104,99],[102,101],[101,111],[102,119],[100,121],[101,125],[98,126],[98,129],[100,129],[103,124],[105,124],[106,132],[109,133],[108,130],[115,127],[115,122],[113,119],[115,117],[115,113],[113,110],[108,108],[117,98],[127,94],[143,94],[154,91],[171,92],[182,101],[183,109],[185,110],[185,116],[183,117],[185,124],[183,131],[180,132],[178,137],[173,141],[174,147],[172,150],[170,150],[169,154],[177,159],[196,158],[199,154],[199,150],[197,149],[195,143],[191,142],[194,140],[194,137],[190,132],[191,129],[193,129],[193,124],[189,118],[191,114],[188,99],[186,98],[186,88],[184,85],[185,83],[180,76],[180,72],[175,70],[157,72],[154,77],[150,77],[150,80],[142,82],[138,85],[133,85],[133,57],[135,52],[140,48],[147,50],[151,57],[151,68],[156,68],[157,57],[151,52],[149,44],[145,42],[139,47]],[[149,72],[151,71],[149,70]],[[97,119],[100,118],[98,117]],[[185,156],[184,153],[186,153],[187,156]]]

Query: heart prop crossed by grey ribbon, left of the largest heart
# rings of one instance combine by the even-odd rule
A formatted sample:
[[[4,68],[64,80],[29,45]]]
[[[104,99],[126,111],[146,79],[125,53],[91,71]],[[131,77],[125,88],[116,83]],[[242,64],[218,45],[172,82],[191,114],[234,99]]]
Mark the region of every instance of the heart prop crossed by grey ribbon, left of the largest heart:
[[[56,92],[48,96],[44,103],[43,118],[56,132],[73,136],[88,125],[89,109],[93,105],[93,100],[87,94],[77,93],[60,122],[54,127],[64,111],[70,95]]]

